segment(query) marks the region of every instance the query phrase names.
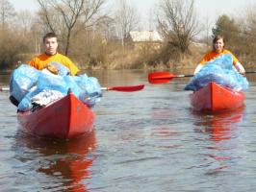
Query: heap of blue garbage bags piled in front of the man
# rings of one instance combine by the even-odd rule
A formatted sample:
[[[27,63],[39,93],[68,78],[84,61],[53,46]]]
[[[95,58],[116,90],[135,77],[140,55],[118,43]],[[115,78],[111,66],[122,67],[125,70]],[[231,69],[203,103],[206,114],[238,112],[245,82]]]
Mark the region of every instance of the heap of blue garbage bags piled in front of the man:
[[[102,91],[94,77],[54,75],[44,73],[26,64],[13,71],[10,87],[11,94],[20,103],[18,109],[26,111],[32,108],[31,99],[43,90],[57,90],[64,95],[71,91],[88,107],[100,101]]]

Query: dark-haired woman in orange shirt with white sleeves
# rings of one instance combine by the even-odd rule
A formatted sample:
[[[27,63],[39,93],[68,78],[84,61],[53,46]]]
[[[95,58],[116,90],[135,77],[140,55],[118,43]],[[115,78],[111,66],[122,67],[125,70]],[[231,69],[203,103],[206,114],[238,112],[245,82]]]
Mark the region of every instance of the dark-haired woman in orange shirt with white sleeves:
[[[194,74],[200,71],[200,69],[205,65],[206,62],[210,60],[216,59],[218,56],[222,54],[229,54],[231,55],[233,59],[233,65],[235,68],[238,70],[239,73],[242,75],[245,74],[245,70],[243,68],[243,65],[241,62],[228,50],[224,49],[225,47],[225,39],[223,36],[216,36],[213,40],[213,50],[209,53],[207,53],[204,57],[203,60],[199,62],[199,64],[196,66],[194,70]]]

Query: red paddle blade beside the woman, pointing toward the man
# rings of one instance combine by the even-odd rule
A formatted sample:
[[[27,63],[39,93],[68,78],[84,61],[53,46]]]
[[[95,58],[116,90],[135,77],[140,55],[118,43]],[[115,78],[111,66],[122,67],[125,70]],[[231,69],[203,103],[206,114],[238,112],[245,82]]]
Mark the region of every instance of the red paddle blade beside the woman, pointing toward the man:
[[[166,84],[173,78],[176,78],[176,75],[173,75],[169,72],[154,72],[148,74],[148,82],[150,84]]]

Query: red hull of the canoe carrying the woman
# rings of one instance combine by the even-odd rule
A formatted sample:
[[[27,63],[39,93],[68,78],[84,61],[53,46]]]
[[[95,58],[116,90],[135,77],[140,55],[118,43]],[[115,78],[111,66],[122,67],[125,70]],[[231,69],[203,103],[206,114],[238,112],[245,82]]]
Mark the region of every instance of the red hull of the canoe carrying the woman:
[[[210,83],[190,95],[196,110],[219,111],[243,106],[244,94],[216,83]]]

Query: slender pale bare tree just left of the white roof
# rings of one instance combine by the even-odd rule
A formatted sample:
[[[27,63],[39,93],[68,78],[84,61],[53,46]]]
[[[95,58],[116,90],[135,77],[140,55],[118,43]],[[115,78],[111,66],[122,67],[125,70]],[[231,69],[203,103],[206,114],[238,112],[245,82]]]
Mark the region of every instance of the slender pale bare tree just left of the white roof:
[[[135,7],[128,4],[127,0],[119,0],[118,11],[115,12],[117,36],[121,37],[122,45],[129,33],[139,27],[139,14]]]

